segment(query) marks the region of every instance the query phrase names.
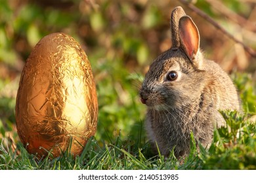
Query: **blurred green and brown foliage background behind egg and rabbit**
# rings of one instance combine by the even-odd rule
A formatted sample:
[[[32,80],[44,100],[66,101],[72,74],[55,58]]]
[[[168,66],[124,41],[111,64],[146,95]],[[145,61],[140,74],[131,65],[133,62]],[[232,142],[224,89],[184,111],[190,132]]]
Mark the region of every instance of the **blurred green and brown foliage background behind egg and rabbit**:
[[[190,3],[256,50],[255,0]],[[146,109],[140,82],[153,59],[170,48],[170,14],[179,5],[198,26],[206,58],[230,73],[256,78],[255,58],[178,0],[0,0],[0,139],[18,141],[14,107],[20,73],[33,46],[54,32],[74,37],[91,62],[99,103],[96,139],[112,141],[120,131],[138,137]]]

